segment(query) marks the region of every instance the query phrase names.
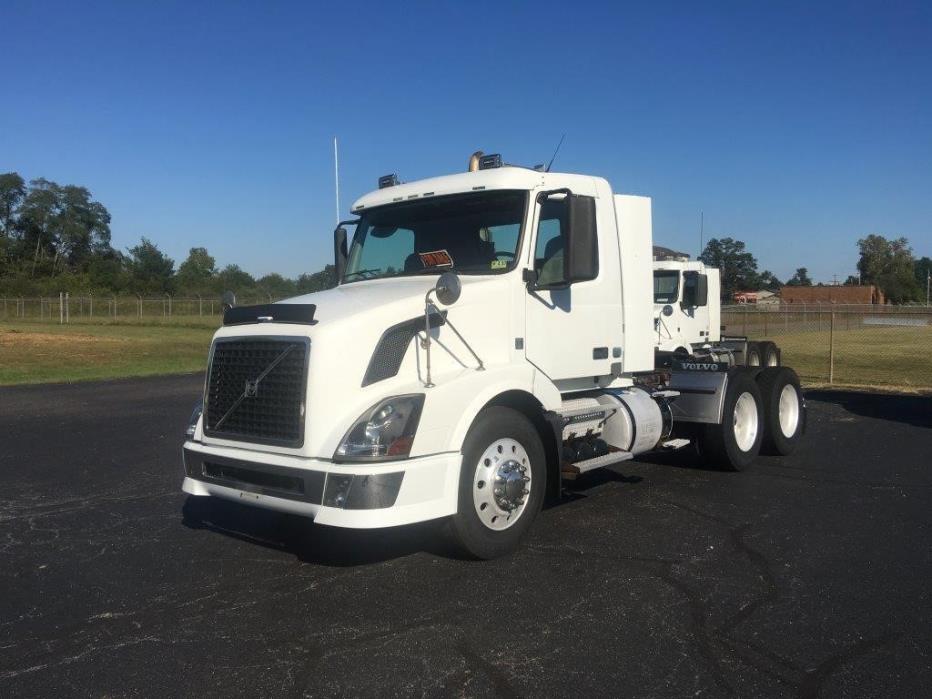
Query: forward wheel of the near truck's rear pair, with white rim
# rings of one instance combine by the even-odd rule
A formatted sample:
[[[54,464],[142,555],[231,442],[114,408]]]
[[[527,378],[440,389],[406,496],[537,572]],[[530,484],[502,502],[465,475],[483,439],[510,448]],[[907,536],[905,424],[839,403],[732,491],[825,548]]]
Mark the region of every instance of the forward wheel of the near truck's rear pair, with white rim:
[[[700,451],[709,466],[726,471],[743,471],[760,453],[764,414],[760,389],[750,371],[731,369],[722,421],[704,425]]]

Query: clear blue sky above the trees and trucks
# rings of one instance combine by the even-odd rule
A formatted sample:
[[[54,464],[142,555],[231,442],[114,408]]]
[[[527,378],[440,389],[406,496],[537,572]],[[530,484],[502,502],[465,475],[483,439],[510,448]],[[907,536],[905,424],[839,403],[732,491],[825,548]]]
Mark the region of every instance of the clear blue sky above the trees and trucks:
[[[932,255],[932,5],[6,0],[0,171],[81,184],[113,243],[261,275],[330,260],[379,175],[476,149],[653,197],[654,238],[781,278]]]

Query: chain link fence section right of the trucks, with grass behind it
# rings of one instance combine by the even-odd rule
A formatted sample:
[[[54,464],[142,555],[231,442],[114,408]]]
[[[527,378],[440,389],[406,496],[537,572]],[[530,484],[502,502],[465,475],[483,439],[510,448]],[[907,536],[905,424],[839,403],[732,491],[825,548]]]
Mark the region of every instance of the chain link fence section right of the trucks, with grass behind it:
[[[805,383],[932,389],[927,306],[732,306],[722,325],[775,342]]]

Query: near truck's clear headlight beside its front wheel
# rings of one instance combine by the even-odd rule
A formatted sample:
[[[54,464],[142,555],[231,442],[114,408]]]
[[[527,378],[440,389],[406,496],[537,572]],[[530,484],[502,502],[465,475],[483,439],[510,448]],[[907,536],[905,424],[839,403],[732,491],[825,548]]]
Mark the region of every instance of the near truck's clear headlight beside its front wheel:
[[[334,461],[403,459],[411,453],[424,394],[386,398],[363,413],[333,455]]]

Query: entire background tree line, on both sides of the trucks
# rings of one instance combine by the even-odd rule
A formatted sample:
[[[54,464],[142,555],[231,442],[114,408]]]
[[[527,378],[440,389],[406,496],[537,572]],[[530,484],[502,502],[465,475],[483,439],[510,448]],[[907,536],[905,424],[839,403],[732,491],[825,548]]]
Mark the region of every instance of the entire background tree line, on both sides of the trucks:
[[[859,276],[846,284],[874,284],[892,303],[925,299],[932,269],[928,257],[916,259],[906,238],[868,235],[858,240]],[[784,282],[769,270],[759,272],[744,242],[712,238],[699,256],[721,270],[722,297],[737,291],[778,291]],[[786,280],[811,286],[805,267]],[[328,289],[336,284],[333,265],[288,279],[267,274],[256,279],[238,265],[218,269],[206,248],[191,248],[175,261],[143,237],[121,252],[110,244],[110,213],[85,187],[39,178],[27,183],[15,172],[0,174],[0,294],[54,295],[60,291],[95,294],[207,295],[270,294],[284,298]]]

